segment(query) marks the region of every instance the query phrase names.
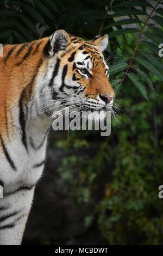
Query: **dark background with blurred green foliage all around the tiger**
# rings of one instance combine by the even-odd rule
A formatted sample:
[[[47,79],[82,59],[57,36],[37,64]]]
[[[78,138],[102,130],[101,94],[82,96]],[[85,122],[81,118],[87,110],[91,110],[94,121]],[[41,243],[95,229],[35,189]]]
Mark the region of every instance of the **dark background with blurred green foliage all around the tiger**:
[[[148,66],[134,59],[129,70],[136,79],[139,76],[139,82],[133,83],[126,76],[120,86],[125,69],[112,71],[117,64],[129,64],[139,31],[156,3],[0,1],[1,43],[32,41],[51,35],[56,29],[65,29],[86,40],[107,33],[109,45],[105,58],[116,50],[108,65],[111,66],[110,81],[112,84],[117,81],[115,102],[121,109],[115,109],[118,116],[112,118],[111,135],[101,137],[99,131],[67,133],[51,129],[47,162],[36,187],[24,245],[163,243],[163,199],[158,197],[158,187],[163,184],[163,57],[158,57],[157,52],[158,45],[163,43],[163,23],[157,22],[157,17],[162,19],[162,1],[158,6],[160,10],[152,15],[156,18],[150,19],[145,28],[145,32],[153,34],[142,34],[135,54],[146,60]],[[123,25],[124,19],[129,20],[128,25]],[[114,32],[115,24],[112,25],[118,20],[121,24],[116,28],[120,35]],[[150,30],[148,25],[153,23],[159,32]],[[124,28],[130,31],[122,31]],[[154,46],[150,49],[142,41],[152,42]],[[149,51],[154,59],[149,60],[149,55],[141,55],[139,50]],[[153,66],[150,69],[151,65],[159,73]]]

